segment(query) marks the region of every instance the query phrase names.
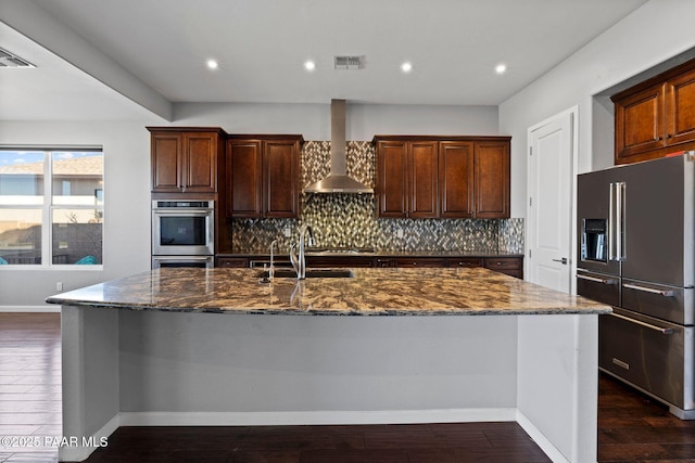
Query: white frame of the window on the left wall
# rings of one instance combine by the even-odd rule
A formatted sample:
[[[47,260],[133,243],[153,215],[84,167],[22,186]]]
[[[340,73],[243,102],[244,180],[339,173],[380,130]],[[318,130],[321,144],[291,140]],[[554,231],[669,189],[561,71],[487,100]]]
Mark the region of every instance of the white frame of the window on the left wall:
[[[0,145],[0,151],[33,151],[43,153],[43,196],[42,204],[40,205],[21,205],[0,204],[0,209],[34,209],[41,210],[41,263],[13,263],[8,266],[0,266],[0,271],[10,270],[76,270],[76,271],[101,271],[104,268],[104,151],[103,146],[99,145]],[[101,153],[102,162],[102,175],[101,175],[101,204],[99,205],[79,205],[79,204],[55,204],[53,197],[53,163],[55,162],[56,153],[64,152],[99,152]],[[97,190],[96,190],[97,191]],[[101,263],[80,266],[75,263],[53,263],[53,213],[55,209],[84,209],[84,210],[100,210],[101,211]]]

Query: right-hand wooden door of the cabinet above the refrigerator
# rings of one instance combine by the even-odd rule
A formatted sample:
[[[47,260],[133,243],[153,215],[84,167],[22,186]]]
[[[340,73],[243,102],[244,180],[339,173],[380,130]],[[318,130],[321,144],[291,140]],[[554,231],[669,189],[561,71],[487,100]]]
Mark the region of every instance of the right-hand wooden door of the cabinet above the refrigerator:
[[[667,83],[667,144],[695,140],[695,70]]]

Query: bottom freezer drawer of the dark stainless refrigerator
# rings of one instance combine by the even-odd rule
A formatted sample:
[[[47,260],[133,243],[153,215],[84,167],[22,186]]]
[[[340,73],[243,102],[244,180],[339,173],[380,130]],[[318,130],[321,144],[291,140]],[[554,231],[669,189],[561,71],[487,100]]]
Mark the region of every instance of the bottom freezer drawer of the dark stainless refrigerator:
[[[693,330],[614,308],[598,318],[598,366],[669,404],[693,410]]]

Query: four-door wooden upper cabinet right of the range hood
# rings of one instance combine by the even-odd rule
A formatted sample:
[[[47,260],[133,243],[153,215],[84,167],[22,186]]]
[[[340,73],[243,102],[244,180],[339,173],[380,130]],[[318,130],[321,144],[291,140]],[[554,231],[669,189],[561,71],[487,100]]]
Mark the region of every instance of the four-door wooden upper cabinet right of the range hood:
[[[377,136],[377,215],[508,218],[509,137]]]

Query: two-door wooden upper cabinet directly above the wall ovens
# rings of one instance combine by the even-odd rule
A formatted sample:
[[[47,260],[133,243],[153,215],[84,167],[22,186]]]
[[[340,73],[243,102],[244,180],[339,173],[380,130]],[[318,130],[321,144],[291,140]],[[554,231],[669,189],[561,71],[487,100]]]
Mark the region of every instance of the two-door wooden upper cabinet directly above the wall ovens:
[[[216,193],[226,133],[208,127],[148,127],[153,193]]]

